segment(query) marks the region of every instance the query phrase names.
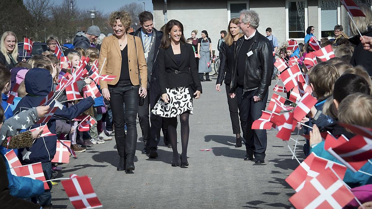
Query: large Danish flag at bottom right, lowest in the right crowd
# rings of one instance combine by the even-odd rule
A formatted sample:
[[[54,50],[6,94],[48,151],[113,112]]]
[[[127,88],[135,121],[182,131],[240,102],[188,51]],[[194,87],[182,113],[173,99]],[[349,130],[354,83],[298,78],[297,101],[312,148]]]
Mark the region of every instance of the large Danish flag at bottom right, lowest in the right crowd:
[[[307,180],[304,188],[289,198],[289,202],[295,208],[343,208],[353,198],[343,181],[326,168],[317,177]]]

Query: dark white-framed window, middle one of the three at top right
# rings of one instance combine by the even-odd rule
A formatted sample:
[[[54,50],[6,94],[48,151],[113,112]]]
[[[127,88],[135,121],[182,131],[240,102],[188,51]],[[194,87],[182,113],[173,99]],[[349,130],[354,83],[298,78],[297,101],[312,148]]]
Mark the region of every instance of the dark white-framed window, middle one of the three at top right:
[[[307,28],[307,1],[286,1],[286,28],[287,39],[305,38]]]

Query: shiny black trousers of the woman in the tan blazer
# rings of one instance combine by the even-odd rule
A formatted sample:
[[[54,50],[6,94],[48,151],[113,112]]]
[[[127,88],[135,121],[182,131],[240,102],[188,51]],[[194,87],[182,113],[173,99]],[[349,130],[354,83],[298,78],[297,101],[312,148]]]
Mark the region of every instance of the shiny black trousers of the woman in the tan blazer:
[[[137,145],[136,118],[140,96],[140,86],[132,86],[130,81],[118,81],[115,85],[109,85],[110,106],[115,125],[116,148],[120,157],[135,155]],[[124,105],[123,105],[124,104]],[[125,106],[125,114],[124,114]],[[127,127],[125,134],[124,124]]]

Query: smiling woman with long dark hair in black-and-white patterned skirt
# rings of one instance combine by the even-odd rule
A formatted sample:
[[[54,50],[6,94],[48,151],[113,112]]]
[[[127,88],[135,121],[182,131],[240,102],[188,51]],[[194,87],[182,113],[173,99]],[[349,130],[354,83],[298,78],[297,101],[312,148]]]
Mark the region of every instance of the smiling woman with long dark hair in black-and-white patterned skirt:
[[[202,85],[198,77],[194,51],[186,43],[183,25],[169,20],[158,52],[158,80],[161,98],[152,113],[168,119],[168,136],[173,150],[172,166],[185,167],[189,143],[189,116],[193,113],[193,98],[198,99]],[[177,150],[177,116],[181,122],[182,154]],[[179,164],[179,159],[181,164]]]

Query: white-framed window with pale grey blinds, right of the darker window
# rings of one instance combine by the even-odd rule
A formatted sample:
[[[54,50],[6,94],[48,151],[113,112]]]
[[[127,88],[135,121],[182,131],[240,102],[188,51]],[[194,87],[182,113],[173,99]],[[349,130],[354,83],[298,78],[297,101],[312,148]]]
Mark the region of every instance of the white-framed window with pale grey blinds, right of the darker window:
[[[334,35],[334,26],[339,21],[339,0],[320,0],[320,37],[331,37]]]

